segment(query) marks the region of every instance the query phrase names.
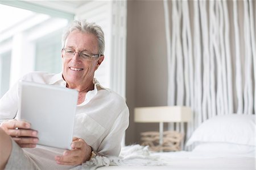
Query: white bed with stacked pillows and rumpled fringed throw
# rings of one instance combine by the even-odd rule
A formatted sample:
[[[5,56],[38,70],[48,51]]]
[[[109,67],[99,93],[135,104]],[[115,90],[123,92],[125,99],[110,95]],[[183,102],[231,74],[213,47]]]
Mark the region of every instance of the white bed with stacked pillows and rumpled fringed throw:
[[[218,115],[202,123],[186,146],[192,151],[122,148],[119,157],[96,156],[74,169],[255,169],[255,115]]]

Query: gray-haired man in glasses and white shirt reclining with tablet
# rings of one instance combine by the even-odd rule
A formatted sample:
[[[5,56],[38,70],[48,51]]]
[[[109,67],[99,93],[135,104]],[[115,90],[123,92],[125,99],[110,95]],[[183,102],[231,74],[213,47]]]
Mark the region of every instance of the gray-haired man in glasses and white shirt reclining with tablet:
[[[104,48],[101,27],[75,20],[63,34],[63,71],[32,72],[21,78],[79,92],[72,150],[36,145],[37,131],[30,129],[29,122],[14,119],[18,111],[17,84],[1,98],[0,117],[10,120],[0,128],[0,169],[70,169],[94,155],[119,155],[129,125],[129,109],[122,97],[94,78],[104,60]]]

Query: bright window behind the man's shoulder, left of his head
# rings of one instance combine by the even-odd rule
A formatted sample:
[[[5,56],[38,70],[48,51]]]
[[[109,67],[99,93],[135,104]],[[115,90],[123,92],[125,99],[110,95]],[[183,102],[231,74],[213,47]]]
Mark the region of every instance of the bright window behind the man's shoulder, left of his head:
[[[0,5],[0,11],[2,97],[28,72],[61,71],[61,34],[68,19],[6,5]]]

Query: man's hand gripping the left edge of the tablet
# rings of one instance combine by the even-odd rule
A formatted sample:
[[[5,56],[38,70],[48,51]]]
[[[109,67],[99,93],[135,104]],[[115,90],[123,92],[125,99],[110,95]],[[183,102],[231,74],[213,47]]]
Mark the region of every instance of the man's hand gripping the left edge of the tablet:
[[[17,121],[12,119],[10,121],[2,122],[0,126],[6,134],[11,136],[13,140],[23,148],[34,148],[38,143],[38,132],[30,129],[30,123],[24,121]]]

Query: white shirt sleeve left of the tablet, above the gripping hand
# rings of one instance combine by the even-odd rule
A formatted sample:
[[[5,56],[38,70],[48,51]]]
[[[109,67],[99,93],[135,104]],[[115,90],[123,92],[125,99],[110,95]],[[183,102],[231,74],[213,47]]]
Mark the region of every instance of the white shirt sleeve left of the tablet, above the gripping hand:
[[[18,111],[18,82],[0,99],[0,121],[15,118]]]

